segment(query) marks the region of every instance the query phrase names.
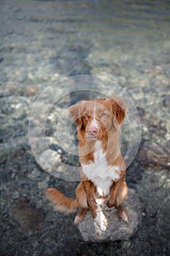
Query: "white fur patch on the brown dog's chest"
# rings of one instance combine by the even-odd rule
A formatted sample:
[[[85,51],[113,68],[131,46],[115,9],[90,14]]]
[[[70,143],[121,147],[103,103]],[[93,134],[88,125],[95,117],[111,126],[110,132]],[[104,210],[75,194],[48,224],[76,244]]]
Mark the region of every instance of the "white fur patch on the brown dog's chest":
[[[93,181],[99,196],[107,196],[109,195],[112,181],[120,178],[120,167],[107,164],[100,140],[96,141],[93,157],[94,162],[91,161],[89,165],[82,164],[82,172]]]

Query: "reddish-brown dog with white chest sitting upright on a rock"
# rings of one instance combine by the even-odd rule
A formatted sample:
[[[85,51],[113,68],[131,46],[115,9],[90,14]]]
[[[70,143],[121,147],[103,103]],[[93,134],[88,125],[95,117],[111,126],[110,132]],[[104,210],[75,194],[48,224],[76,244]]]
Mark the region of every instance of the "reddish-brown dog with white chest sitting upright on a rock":
[[[102,206],[115,206],[125,222],[128,213],[121,206],[128,193],[125,182],[125,163],[120,152],[120,127],[125,118],[126,106],[122,99],[90,99],[70,108],[77,124],[79,140],[80,175],[82,181],[76,189],[76,198],[65,197],[57,189],[47,189],[47,198],[55,210],[70,213],[79,209],[74,219],[77,225],[90,209],[101,230],[108,221]]]

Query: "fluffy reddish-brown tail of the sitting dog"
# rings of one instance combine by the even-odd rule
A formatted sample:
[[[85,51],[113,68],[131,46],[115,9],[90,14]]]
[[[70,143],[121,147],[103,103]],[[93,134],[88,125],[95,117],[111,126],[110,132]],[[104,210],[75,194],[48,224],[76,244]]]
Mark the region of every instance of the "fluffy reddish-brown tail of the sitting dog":
[[[77,198],[66,197],[58,189],[47,189],[46,195],[47,199],[53,203],[53,207],[56,211],[62,211],[69,214],[76,211],[80,206]]]

